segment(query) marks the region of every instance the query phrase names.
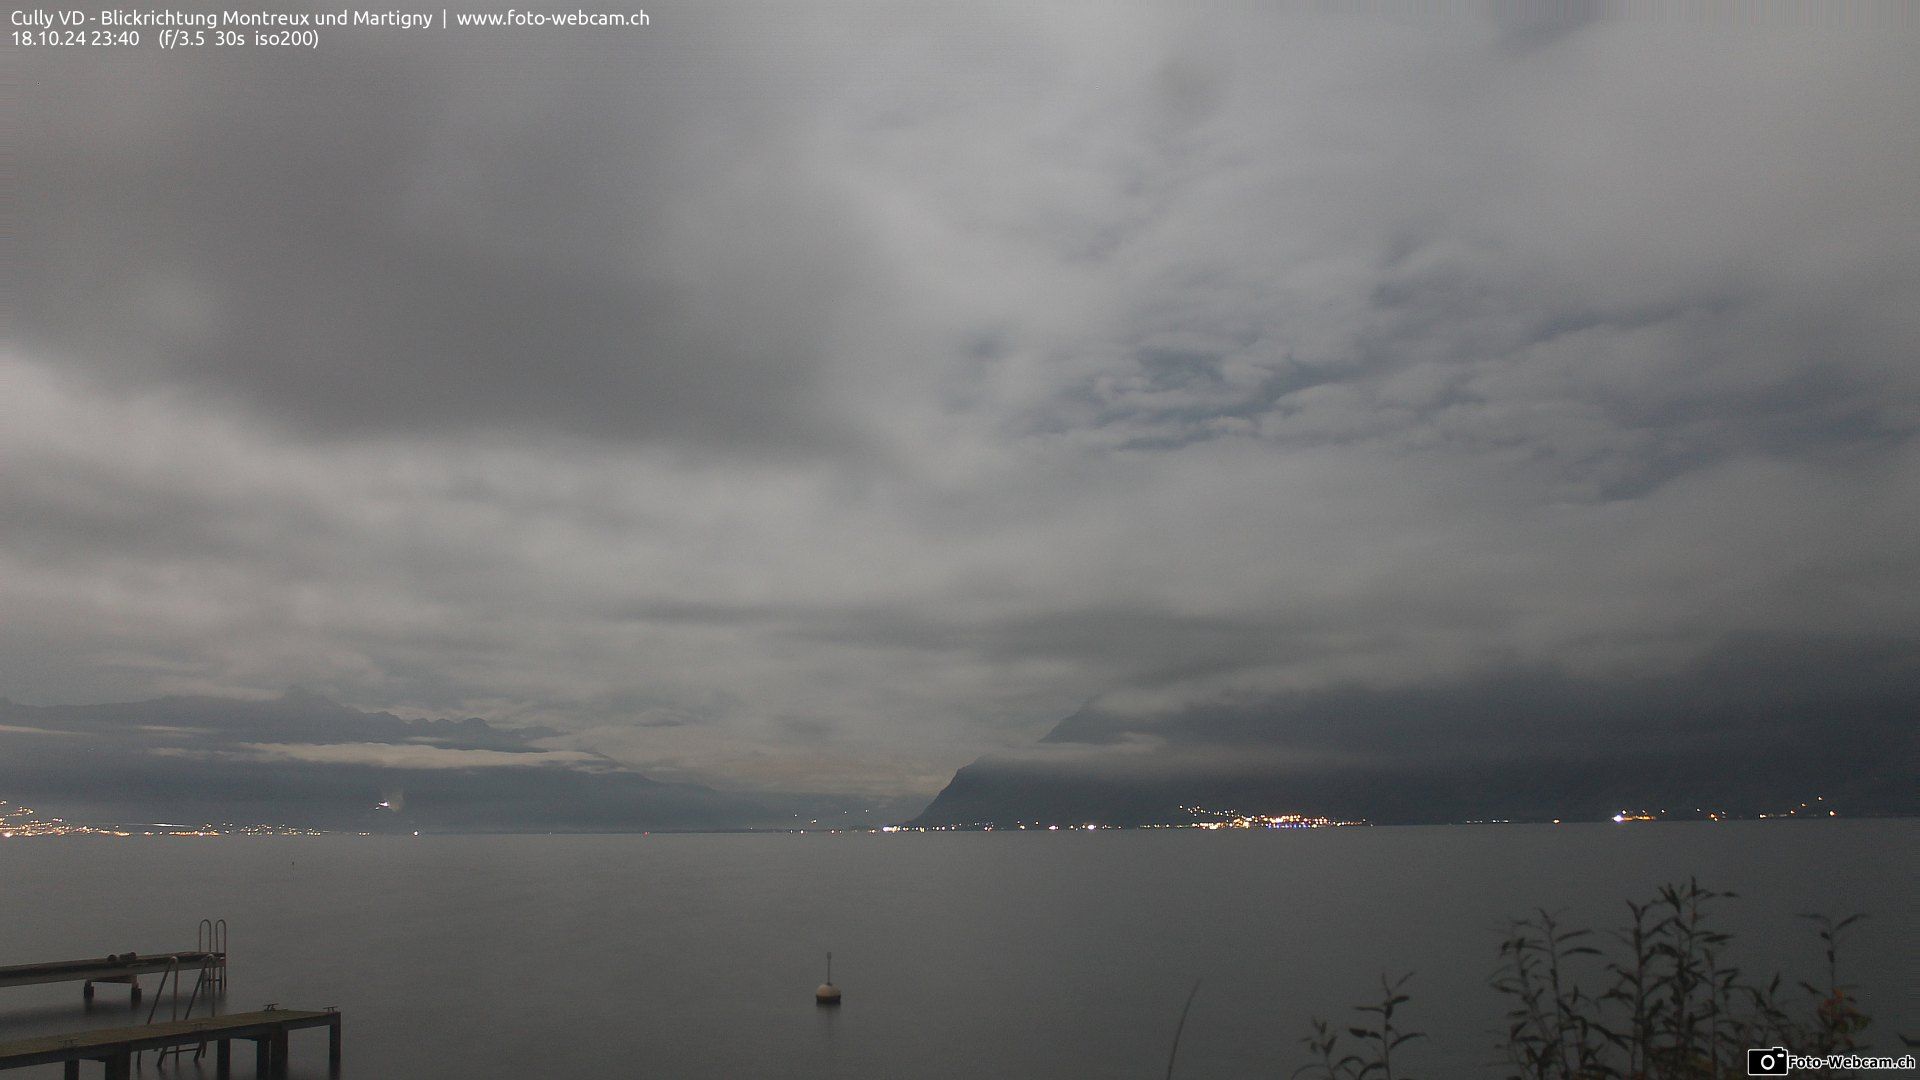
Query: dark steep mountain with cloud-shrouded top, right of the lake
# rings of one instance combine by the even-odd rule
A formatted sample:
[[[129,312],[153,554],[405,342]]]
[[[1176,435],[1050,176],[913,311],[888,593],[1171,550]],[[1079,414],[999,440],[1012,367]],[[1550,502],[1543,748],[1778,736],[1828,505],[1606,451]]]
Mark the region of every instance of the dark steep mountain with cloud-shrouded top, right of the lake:
[[[1619,809],[1920,811],[1914,642],[1747,640],[1661,675],[1475,678],[1089,703],[962,769],[918,824],[1175,822],[1185,805],[1377,822]]]

